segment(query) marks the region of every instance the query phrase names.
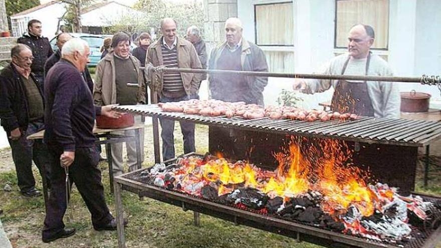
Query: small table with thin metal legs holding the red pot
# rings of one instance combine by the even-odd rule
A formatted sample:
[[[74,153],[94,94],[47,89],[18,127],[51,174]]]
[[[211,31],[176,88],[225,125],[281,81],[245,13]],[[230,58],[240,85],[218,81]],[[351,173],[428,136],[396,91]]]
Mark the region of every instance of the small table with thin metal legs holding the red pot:
[[[112,150],[111,150],[111,144],[113,143],[121,143],[121,142],[127,142],[127,141],[134,141],[136,143],[136,160],[137,160],[137,169],[141,168],[141,147],[139,142],[139,130],[141,128],[144,128],[144,124],[135,124],[131,127],[126,128],[119,128],[119,129],[101,129],[97,128],[96,126],[93,128],[93,133],[96,135],[97,138],[105,138],[104,140],[99,139],[97,143],[105,144],[106,145],[106,156],[107,156],[107,162],[109,164],[109,178],[110,178],[110,192],[113,194],[113,160],[112,160]],[[125,136],[125,135],[115,135],[112,134],[112,132],[116,131],[126,131],[126,130],[135,130],[135,136]],[[30,140],[37,140],[37,139],[43,139],[45,134],[45,130],[41,130],[37,133],[31,134],[27,137],[27,139]],[[43,164],[42,165],[42,173],[43,175],[46,175],[46,167]],[[48,189],[46,184],[46,178],[43,176],[43,195],[45,198],[45,204],[48,202]]]

